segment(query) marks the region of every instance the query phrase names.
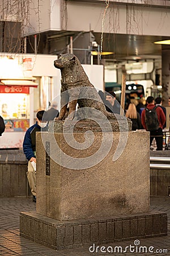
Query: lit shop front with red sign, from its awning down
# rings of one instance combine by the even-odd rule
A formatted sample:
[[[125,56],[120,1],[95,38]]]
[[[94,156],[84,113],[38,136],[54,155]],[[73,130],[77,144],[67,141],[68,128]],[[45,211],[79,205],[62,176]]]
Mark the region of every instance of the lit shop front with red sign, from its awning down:
[[[31,80],[1,80],[0,114],[5,121],[1,148],[22,147],[25,131],[30,125],[30,87],[37,87]]]

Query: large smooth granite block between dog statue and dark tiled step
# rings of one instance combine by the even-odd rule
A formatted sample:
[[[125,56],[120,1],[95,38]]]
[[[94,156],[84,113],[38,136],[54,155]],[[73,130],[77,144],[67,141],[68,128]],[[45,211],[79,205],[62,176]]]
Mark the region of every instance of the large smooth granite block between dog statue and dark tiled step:
[[[120,133],[93,135],[91,146],[77,150],[66,143],[63,133],[36,134],[37,213],[66,221],[148,212],[149,133],[130,131],[114,161]],[[125,139],[127,134],[121,135]],[[75,133],[74,138],[80,145],[85,141],[83,133]]]

